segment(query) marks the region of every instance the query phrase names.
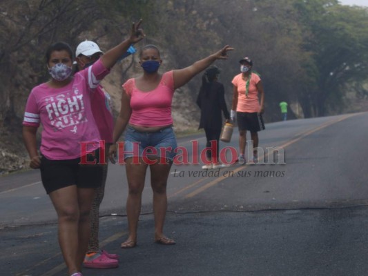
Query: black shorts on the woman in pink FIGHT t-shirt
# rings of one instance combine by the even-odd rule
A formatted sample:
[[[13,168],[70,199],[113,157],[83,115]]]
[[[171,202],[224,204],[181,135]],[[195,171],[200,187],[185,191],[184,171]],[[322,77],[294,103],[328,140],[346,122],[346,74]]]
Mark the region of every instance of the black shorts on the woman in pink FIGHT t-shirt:
[[[77,185],[78,188],[97,188],[102,184],[103,165],[99,162],[99,149],[95,156],[87,155],[87,161],[97,160],[96,165],[79,164],[81,158],[66,160],[50,160],[41,157],[41,180],[46,193]]]

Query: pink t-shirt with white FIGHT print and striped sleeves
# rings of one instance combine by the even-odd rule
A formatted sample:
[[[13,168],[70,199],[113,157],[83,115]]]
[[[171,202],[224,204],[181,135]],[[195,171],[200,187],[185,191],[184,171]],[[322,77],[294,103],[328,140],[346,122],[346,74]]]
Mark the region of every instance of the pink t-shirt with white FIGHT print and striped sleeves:
[[[93,66],[77,72],[63,88],[50,88],[42,83],[32,89],[23,126],[38,128],[42,124],[42,155],[52,160],[75,159],[81,156],[81,142],[95,142],[88,150],[99,147],[99,130],[93,118],[90,96],[109,72],[98,60]]]

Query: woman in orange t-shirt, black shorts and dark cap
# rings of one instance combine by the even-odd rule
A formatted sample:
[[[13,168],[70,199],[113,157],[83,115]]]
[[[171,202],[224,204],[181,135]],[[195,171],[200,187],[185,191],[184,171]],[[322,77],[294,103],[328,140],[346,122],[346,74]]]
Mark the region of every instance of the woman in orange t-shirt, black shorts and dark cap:
[[[262,112],[264,110],[264,91],[259,75],[252,72],[253,61],[244,57],[239,61],[240,74],[233,78],[233,105],[231,119],[238,121],[240,155],[238,161],[254,164],[257,161],[258,131],[264,130]],[[260,99],[258,98],[260,95]],[[236,112],[236,113],[235,113]],[[253,152],[245,157],[246,130],[251,132]]]

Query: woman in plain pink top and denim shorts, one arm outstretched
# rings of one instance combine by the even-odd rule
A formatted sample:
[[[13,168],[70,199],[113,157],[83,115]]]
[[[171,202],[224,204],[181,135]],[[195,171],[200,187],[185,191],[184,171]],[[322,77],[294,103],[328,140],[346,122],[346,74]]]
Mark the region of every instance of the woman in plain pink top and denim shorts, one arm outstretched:
[[[171,117],[173,93],[216,59],[226,59],[229,50],[233,48],[225,46],[184,69],[159,74],[162,60],[158,48],[153,45],[142,48],[139,63],[143,74],[124,83],[122,108],[115,121],[113,134],[113,141],[116,142],[126,130],[124,146],[119,144],[119,162],[126,163],[129,236],[122,243],[122,248],[133,248],[137,243],[137,226],[148,166],[153,189],[154,241],[164,245],[175,244],[163,233],[167,208],[166,184],[177,147]],[[116,152],[117,147],[113,144],[110,146],[110,159],[113,162]]]

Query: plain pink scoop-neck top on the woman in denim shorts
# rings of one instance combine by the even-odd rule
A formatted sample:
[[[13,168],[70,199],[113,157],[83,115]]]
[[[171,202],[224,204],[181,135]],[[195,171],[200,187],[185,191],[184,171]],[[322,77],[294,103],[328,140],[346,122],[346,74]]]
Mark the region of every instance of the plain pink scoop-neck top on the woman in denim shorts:
[[[173,124],[171,103],[174,95],[173,71],[162,75],[157,88],[144,92],[135,86],[135,79],[128,79],[123,88],[130,96],[129,124],[135,126],[168,126]]]

